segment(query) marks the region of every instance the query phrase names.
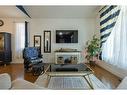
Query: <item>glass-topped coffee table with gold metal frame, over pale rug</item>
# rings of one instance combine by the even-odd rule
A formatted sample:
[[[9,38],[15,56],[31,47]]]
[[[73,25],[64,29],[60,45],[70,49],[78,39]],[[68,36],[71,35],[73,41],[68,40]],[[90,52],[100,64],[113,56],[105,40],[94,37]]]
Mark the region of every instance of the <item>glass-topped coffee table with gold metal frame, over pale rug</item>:
[[[49,64],[49,67],[50,72],[47,72],[47,75],[50,77],[48,88],[93,89],[93,85],[89,77],[93,71],[85,64]]]

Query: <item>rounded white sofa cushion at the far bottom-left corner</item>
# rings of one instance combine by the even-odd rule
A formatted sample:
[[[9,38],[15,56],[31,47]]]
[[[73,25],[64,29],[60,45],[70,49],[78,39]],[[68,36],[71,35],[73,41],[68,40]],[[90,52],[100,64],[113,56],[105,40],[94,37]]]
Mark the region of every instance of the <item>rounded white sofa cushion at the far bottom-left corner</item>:
[[[10,89],[11,78],[7,73],[0,74],[0,89]]]

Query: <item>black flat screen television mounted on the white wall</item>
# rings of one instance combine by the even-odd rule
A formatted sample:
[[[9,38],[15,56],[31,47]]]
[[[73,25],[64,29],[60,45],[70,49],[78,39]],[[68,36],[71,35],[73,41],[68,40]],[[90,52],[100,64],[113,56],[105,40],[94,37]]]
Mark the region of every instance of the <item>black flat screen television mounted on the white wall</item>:
[[[56,30],[56,43],[78,43],[78,30]]]

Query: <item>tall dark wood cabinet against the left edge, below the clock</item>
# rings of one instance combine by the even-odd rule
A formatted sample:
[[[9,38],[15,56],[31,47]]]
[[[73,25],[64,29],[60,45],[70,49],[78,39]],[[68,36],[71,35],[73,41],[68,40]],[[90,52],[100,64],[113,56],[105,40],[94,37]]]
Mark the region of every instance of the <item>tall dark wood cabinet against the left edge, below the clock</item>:
[[[11,62],[11,34],[6,32],[0,32],[0,61]]]

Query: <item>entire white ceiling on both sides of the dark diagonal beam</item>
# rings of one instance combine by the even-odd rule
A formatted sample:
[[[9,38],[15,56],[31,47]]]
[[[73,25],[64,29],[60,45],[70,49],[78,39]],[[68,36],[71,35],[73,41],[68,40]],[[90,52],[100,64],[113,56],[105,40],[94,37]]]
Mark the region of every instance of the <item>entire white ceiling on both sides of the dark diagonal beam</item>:
[[[99,6],[23,6],[31,18],[92,18]],[[0,6],[0,17],[26,18],[16,6]]]

